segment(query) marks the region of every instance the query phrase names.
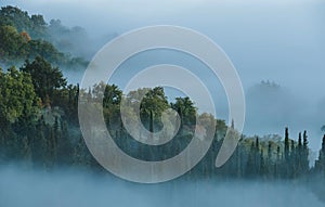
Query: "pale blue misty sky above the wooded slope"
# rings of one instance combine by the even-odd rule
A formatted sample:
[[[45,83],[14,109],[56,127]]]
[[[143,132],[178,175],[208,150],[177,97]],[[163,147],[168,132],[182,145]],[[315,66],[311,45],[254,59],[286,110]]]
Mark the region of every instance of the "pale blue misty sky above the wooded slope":
[[[31,14],[43,14],[48,22],[60,18],[64,25],[84,27],[94,40],[152,25],[195,29],[219,44],[238,72],[249,104],[244,132],[282,135],[284,127],[288,126],[296,139],[299,131],[307,129],[312,148],[320,147],[320,128],[325,125],[324,1],[2,0],[0,4],[13,4]],[[182,64],[172,60],[172,55],[165,56]],[[139,59],[143,60],[143,64],[135,61],[138,66],[152,63],[145,62],[145,55]],[[192,62],[184,63],[184,66],[191,65]],[[207,82],[213,82],[208,74],[198,73]],[[258,98],[263,98],[265,93],[253,89],[261,80],[274,81],[282,87],[281,94],[273,99],[274,103],[261,105],[259,102]],[[226,99],[220,82],[214,82],[218,85],[214,92],[220,94],[214,99],[221,100],[221,108],[217,108],[217,113],[226,118]],[[285,101],[281,100],[283,94],[286,94]],[[253,98],[250,99],[250,95]],[[272,108],[288,113],[282,117]],[[262,120],[259,118],[261,116],[264,116]]]

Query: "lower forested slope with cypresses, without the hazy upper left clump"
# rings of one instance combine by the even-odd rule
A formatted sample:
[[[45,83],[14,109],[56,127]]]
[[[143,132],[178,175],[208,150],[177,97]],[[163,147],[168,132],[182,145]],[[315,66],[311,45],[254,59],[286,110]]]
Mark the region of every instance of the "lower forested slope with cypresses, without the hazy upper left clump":
[[[26,166],[44,169],[72,165],[101,169],[88,152],[78,127],[79,95],[90,102],[102,99],[104,117],[116,143],[125,152],[144,160],[161,160],[179,154],[191,141],[198,115],[188,98],[177,98],[173,103],[168,103],[161,87],[122,94],[117,86],[102,82],[80,91],[79,86],[66,86],[62,72],[40,56],[31,63],[27,61],[20,70],[15,67],[5,73],[1,70],[0,79],[1,163],[20,160]],[[172,141],[148,146],[133,140],[127,132],[119,114],[120,102],[126,99],[135,103],[142,96],[141,119],[150,131],[161,128],[160,116],[165,109],[173,108],[179,113],[181,128]],[[216,168],[214,159],[229,127],[223,120],[217,120],[216,129],[210,150],[188,172],[191,177],[297,179],[312,172],[325,172],[325,137],[315,167],[310,169],[307,131],[294,141],[287,128],[284,140],[242,135],[231,159]],[[230,129],[235,130],[234,126]]]

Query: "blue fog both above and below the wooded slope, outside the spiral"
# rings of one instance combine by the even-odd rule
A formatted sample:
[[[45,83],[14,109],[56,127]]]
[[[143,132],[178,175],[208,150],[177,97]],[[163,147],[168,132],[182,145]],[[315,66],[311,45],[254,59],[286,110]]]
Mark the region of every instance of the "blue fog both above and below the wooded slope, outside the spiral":
[[[244,133],[283,135],[284,128],[289,127],[291,139],[308,130],[312,150],[316,152],[321,146],[321,127],[325,125],[324,1],[0,2],[1,7],[6,4],[17,5],[29,14],[42,14],[48,23],[61,20],[73,33],[57,31],[60,41],[69,43],[58,48],[86,60],[91,60],[112,38],[139,27],[178,25],[195,29],[216,41],[239,74],[247,101]],[[136,54],[119,67],[109,82],[123,88],[141,69],[166,63],[188,68],[203,79],[216,100],[218,118],[227,119],[226,94],[220,81],[191,55],[171,50]],[[64,68],[64,74],[73,83],[80,82],[82,77],[76,69]],[[262,80],[265,82],[261,83]],[[180,93],[168,90],[167,94],[172,101]],[[204,111],[209,108],[200,108]],[[311,160],[315,156],[317,153],[311,153]],[[324,206],[318,199],[324,194],[314,194],[310,185],[221,180],[142,185],[113,176],[89,174],[82,169],[44,172],[0,166],[0,206]]]

